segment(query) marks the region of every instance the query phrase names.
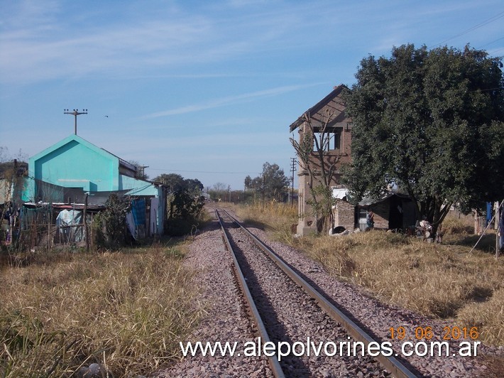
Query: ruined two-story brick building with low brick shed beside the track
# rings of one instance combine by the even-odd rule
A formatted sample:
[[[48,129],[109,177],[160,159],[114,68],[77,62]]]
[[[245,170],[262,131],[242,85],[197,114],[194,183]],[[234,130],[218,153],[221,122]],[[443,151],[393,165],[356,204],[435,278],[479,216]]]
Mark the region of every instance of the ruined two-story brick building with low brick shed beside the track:
[[[325,171],[326,181],[332,188],[332,196],[336,198],[333,207],[333,227],[344,227],[353,230],[366,229],[366,212],[373,210],[375,228],[377,229],[402,229],[415,225],[415,208],[407,195],[400,193],[384,193],[382,198],[363,198],[354,206],[347,202],[347,189],[341,184],[341,166],[351,163],[351,119],[345,114],[345,104],[342,93],[346,90],[344,85],[334,87],[334,90],[322,100],[314,104],[290,125],[290,132],[297,129],[298,143],[305,141],[309,147],[308,158],[298,156],[300,169],[298,171],[298,224],[296,232],[306,235],[310,232],[320,231],[316,225],[312,206],[310,186],[315,188],[323,182]],[[324,141],[319,134],[324,134]],[[315,141],[317,140],[317,141]],[[322,141],[322,146],[320,141]],[[312,144],[308,146],[307,144]],[[320,153],[320,151],[323,153]],[[305,151],[305,150],[303,150]],[[299,151],[297,151],[299,153]],[[320,161],[324,160],[324,166]],[[305,163],[307,161],[307,163]],[[313,182],[311,182],[311,180]],[[317,182],[318,181],[318,182]]]

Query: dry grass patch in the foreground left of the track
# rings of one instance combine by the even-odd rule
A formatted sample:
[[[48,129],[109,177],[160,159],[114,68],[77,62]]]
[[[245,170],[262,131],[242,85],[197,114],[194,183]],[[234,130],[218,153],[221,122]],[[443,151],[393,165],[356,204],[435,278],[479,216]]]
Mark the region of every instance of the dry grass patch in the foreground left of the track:
[[[131,376],[178,354],[199,316],[180,249],[52,253],[0,268],[0,376],[63,376],[92,362]]]

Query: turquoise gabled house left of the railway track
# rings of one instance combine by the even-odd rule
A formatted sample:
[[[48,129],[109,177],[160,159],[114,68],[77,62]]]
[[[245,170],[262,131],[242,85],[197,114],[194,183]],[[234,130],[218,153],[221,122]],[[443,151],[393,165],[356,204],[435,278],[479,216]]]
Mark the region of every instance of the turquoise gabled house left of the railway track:
[[[82,204],[87,195],[89,205],[103,205],[111,193],[129,195],[145,203],[145,233],[163,233],[165,187],[137,178],[136,166],[80,136],[67,136],[32,156],[28,177],[25,202]]]

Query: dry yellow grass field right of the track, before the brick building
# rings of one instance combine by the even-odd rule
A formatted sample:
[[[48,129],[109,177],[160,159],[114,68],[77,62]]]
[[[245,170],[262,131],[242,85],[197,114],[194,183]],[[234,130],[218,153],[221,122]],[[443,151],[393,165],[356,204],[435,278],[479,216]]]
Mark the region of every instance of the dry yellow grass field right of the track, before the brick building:
[[[248,217],[256,215],[249,212]],[[292,222],[290,215],[281,212],[259,219],[266,224],[274,220],[270,228],[280,235],[288,230],[278,228]],[[482,340],[503,345],[504,257],[494,257],[495,234],[469,254],[478,237],[469,235],[457,220],[449,220],[443,229],[447,244],[381,231],[290,236],[282,241],[322,263],[330,274],[368,288],[385,301],[427,316],[454,319],[464,327],[476,325]]]

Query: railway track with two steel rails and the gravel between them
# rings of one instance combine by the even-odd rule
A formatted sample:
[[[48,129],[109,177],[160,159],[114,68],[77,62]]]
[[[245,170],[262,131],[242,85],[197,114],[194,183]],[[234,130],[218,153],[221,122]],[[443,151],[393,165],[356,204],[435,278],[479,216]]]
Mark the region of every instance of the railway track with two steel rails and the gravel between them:
[[[376,342],[370,335],[228,212],[215,214],[258,340],[275,350],[268,357],[275,377],[416,377],[393,356],[361,355]]]

